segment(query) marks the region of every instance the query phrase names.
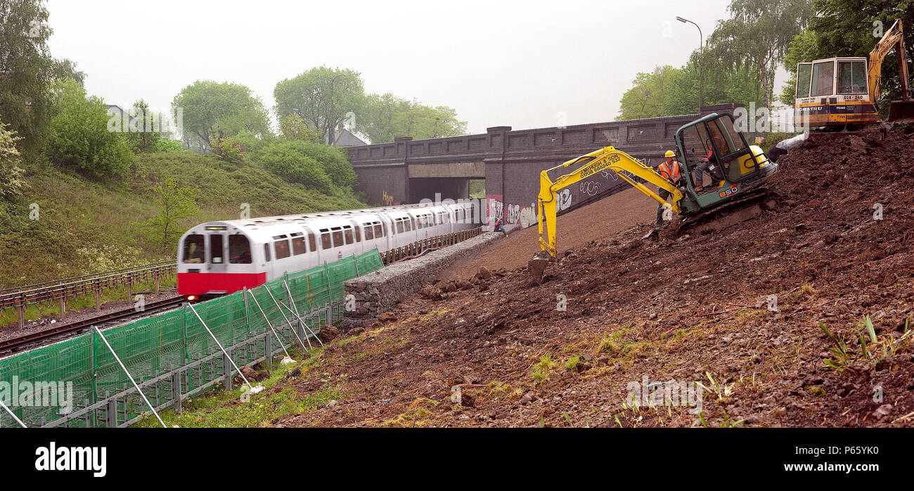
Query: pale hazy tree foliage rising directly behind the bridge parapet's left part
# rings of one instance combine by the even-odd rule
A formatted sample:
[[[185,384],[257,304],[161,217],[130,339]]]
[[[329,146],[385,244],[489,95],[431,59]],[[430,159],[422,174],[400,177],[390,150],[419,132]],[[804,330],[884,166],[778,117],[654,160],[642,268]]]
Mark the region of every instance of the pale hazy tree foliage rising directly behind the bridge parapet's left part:
[[[466,134],[466,121],[458,120],[457,111],[447,106],[432,108],[390,93],[371,94],[357,113],[356,130],[372,143],[394,141],[399,136],[422,140]]]

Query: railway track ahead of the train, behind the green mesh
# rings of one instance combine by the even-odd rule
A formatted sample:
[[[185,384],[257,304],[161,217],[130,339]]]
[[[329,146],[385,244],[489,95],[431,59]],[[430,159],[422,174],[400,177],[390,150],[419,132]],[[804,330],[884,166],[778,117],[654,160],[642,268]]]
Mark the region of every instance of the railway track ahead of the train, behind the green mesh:
[[[184,301],[184,297],[165,298],[164,300],[147,303],[142,311],[137,311],[135,308],[124,308],[91,319],[78,320],[63,326],[51,327],[49,329],[23,334],[21,336],[6,338],[5,340],[0,340],[0,355],[35,348],[42,344],[47,344],[50,341],[63,340],[70,336],[80,334],[83,329],[88,329],[90,326],[104,328],[122,323],[126,320],[147,317],[170,308],[176,308]]]

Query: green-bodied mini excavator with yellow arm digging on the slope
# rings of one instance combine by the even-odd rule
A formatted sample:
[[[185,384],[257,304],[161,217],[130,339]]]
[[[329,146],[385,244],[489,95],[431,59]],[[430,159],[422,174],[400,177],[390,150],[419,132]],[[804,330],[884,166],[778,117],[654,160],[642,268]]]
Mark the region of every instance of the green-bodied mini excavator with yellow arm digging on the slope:
[[[615,172],[626,183],[650,196],[659,204],[683,216],[678,235],[701,234],[720,230],[777,205],[777,194],[762,187],[778,164],[768,160],[756,145],[736,130],[729,114],[708,114],[681,126],[675,133],[677,161],[681,165],[679,181],[671,183],[654,169],[613,147],[603,147],[586,155],[539,173],[537,214],[540,252],[527,267],[537,281],[550,261],[556,259],[556,218],[558,193],[598,172]],[[692,171],[707,158],[707,172],[716,185],[696,192]],[[583,164],[576,171],[549,178],[548,172]],[[670,193],[671,203],[642,183],[653,184]]]

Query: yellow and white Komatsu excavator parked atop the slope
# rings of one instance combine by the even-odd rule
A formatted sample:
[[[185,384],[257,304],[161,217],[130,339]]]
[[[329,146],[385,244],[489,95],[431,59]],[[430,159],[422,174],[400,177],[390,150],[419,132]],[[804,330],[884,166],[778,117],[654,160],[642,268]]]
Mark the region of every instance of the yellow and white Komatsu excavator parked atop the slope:
[[[793,108],[803,126],[852,129],[877,122],[882,61],[892,48],[898,57],[901,99],[888,110],[889,123],[914,121],[901,19],[896,19],[866,57],[831,57],[797,65]]]

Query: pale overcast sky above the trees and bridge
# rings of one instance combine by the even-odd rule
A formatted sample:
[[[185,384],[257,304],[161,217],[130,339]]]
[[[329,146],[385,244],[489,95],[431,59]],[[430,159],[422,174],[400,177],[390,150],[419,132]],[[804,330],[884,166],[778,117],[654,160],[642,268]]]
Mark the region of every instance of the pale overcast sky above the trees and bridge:
[[[50,0],[48,42],[110,104],[165,110],[198,79],[253,89],[326,65],[367,92],[451,106],[468,130],[613,120],[639,71],[682,66],[728,0]],[[783,77],[779,78],[779,82]],[[776,90],[775,93],[779,93]]]

